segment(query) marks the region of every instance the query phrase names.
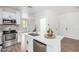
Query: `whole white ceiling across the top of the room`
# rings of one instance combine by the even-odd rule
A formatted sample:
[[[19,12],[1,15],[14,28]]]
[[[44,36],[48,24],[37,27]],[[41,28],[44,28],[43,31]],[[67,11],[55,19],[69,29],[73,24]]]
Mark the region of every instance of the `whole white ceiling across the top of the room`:
[[[79,6],[32,6],[32,8],[29,8],[27,6],[8,6],[8,7],[15,8],[20,11],[22,10],[22,8],[24,8],[31,15],[34,15],[38,12],[45,11],[45,10],[52,10],[59,14],[66,13],[66,12],[72,12],[72,11],[79,12]]]

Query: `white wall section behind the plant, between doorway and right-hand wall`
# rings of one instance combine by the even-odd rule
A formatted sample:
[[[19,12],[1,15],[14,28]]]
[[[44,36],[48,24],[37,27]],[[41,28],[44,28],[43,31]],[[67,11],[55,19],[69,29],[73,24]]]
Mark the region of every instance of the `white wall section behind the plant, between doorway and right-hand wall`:
[[[58,34],[58,19],[57,19],[57,14],[55,12],[53,12],[52,10],[48,11],[47,13],[47,22],[50,25],[50,27],[52,28],[52,30],[54,31],[55,34]],[[48,28],[48,26],[47,26]]]

